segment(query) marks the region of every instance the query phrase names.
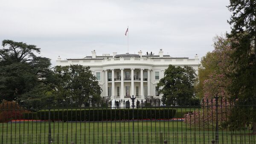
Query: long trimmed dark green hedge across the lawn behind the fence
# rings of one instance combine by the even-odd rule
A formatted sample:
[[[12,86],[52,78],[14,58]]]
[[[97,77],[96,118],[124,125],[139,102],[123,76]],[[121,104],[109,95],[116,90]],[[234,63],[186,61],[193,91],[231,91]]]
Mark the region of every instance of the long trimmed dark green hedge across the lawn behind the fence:
[[[166,108],[134,109],[134,119],[172,119],[176,110]],[[41,110],[37,116],[51,121],[109,121],[132,120],[133,109],[67,109]]]

